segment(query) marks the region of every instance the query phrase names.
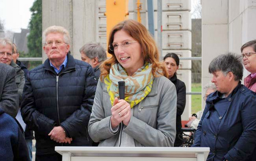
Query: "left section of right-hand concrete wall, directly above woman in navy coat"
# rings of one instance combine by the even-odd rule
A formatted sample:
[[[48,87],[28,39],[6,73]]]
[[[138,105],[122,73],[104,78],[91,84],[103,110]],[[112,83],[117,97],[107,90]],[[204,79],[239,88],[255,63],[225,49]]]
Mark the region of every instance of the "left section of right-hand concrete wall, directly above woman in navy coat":
[[[229,51],[228,1],[202,0],[202,87],[211,81],[208,72],[211,60]]]

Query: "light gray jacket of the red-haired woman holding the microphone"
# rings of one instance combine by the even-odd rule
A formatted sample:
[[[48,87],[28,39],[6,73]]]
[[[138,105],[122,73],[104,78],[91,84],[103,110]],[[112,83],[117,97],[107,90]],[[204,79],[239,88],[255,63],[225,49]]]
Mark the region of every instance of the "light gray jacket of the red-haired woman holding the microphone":
[[[110,129],[111,103],[107,87],[98,81],[88,132],[99,146],[119,146],[122,135],[134,140],[135,147],[173,147],[176,134],[177,95],[174,84],[166,77],[153,80],[151,92],[133,107],[128,126],[113,133]],[[123,141],[123,140],[121,140]],[[121,143],[122,145],[122,143]]]

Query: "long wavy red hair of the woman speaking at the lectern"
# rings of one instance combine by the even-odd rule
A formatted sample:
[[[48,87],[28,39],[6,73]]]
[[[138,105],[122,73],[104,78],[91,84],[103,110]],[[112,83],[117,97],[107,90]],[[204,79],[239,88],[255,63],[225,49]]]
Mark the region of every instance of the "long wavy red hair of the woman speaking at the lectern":
[[[112,45],[115,33],[120,30],[125,31],[140,43],[145,62],[150,62],[152,64],[152,74],[154,77],[159,74],[168,74],[164,64],[159,62],[159,52],[155,40],[152,38],[151,34],[149,34],[146,27],[135,20],[124,20],[115,25],[109,34],[108,46]],[[118,63],[114,51],[111,51],[108,48],[108,53],[111,54],[112,57],[101,63],[101,81],[109,74],[111,66]]]

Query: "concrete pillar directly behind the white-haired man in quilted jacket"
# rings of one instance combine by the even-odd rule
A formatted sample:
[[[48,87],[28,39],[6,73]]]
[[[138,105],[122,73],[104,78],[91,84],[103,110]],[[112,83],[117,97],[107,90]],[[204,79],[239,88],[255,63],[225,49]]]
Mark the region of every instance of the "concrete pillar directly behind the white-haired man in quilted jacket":
[[[79,49],[96,40],[97,0],[43,0],[42,31],[56,25],[65,27],[70,34],[70,51],[74,58],[81,59]],[[43,62],[47,59],[42,54]]]

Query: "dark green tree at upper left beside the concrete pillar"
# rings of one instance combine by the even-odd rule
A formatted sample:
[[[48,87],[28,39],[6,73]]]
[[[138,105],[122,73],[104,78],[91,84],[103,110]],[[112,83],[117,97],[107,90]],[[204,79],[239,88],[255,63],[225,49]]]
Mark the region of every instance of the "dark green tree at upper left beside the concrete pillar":
[[[30,8],[32,12],[29,22],[30,33],[27,37],[29,57],[42,56],[42,0],[35,0]]]

